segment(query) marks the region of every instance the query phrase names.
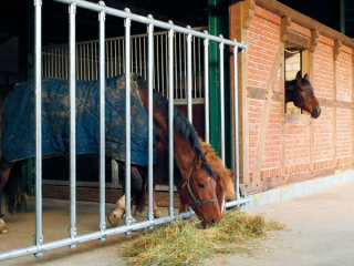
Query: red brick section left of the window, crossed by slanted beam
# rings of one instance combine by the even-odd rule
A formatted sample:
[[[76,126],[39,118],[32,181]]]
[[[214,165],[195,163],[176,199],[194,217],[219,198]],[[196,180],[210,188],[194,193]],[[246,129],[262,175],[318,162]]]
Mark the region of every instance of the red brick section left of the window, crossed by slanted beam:
[[[249,28],[249,61],[248,84],[267,89],[271,65],[279,45],[280,34],[279,16],[256,7],[254,16]],[[279,80],[275,85],[279,91]],[[249,101],[249,160],[250,171],[253,168],[256,146],[259,134],[261,114],[264,100],[250,99]],[[280,175],[280,103],[273,102],[268,127],[262,130],[266,135],[262,157],[262,178]]]

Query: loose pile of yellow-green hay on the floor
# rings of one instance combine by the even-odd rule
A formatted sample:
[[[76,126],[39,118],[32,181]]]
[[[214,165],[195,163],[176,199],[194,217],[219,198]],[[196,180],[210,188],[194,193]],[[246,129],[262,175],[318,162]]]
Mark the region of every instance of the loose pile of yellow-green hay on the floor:
[[[263,245],[259,239],[270,231],[285,228],[262,215],[229,211],[216,226],[201,229],[197,218],[177,221],[146,231],[121,255],[132,265],[200,265],[218,254],[251,255]]]

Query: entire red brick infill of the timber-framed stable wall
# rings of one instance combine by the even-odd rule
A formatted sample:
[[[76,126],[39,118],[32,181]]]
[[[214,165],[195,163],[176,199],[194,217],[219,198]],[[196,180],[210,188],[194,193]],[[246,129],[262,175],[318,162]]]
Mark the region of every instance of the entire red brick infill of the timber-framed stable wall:
[[[285,175],[301,172],[306,174],[305,172],[312,170],[312,167],[317,170],[350,163],[353,160],[354,152],[352,135],[353,111],[351,109],[353,49],[345,45],[341,47],[335,70],[336,95],[333,95],[334,40],[324,35],[319,37],[319,43],[313,53],[313,76],[311,76],[315,95],[320,99],[320,102],[324,103],[321,106],[321,116],[311,120],[308,120],[305,116],[296,116],[298,120],[292,120],[294,116],[288,116],[287,114],[284,120],[287,123],[282,127],[282,119],[280,116],[281,102],[279,102],[278,98],[278,100],[274,99],[272,102],[267,129],[260,129],[264,99],[267,96],[266,94],[263,99],[263,94],[260,92],[267,90],[271,64],[280,44],[280,23],[281,18],[279,16],[256,7],[254,16],[248,30],[247,81],[248,89],[253,90],[252,98],[249,99],[249,171],[250,173],[253,171],[258,136],[260,133],[263,133],[266,134],[266,142],[261,158],[261,180],[280,176],[282,174],[282,162],[284,163]],[[299,40],[306,38],[310,41],[310,29],[296,23],[291,23],[290,29],[292,34],[301,35],[302,39],[299,37]],[[281,98],[283,94],[280,94],[282,93],[282,91],[279,91],[280,88],[282,85],[280,86],[278,80],[274,91]],[[337,100],[335,117],[333,116],[334,96]],[[311,126],[311,123],[313,123],[313,126]],[[283,136],[281,135],[282,129],[284,132]],[[336,129],[335,133],[333,132],[334,129]],[[311,142],[312,136],[313,143]],[[334,140],[334,136],[336,136],[336,140]],[[282,146],[282,141],[284,146]],[[313,165],[310,164],[311,144],[313,144]],[[335,151],[334,146],[336,147]],[[284,154],[282,154],[282,149],[284,149]],[[336,156],[336,162],[333,160],[334,155]],[[253,176],[252,174],[250,176],[251,182],[253,177],[256,178],[254,181],[259,178],[259,176]],[[257,191],[257,188],[254,190]]]

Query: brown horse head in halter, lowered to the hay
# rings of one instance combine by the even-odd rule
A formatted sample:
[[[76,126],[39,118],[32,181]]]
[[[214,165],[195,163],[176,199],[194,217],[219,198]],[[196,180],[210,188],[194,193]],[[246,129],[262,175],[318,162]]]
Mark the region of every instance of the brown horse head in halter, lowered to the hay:
[[[195,211],[205,228],[221,219],[216,190],[217,182],[210,166],[201,155],[196,155],[188,177],[178,191],[180,201]]]

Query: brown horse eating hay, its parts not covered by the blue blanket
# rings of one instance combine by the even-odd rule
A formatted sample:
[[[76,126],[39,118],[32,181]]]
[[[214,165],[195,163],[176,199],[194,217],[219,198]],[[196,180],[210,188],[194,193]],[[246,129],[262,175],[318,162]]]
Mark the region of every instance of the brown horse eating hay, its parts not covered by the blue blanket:
[[[137,82],[139,85],[139,93],[142,102],[144,103],[145,110],[147,109],[147,83],[137,74],[132,74],[132,82]],[[158,132],[159,141],[164,143],[164,145],[168,145],[168,130],[167,130],[167,121],[168,121],[168,102],[165,98],[163,98],[157,91],[154,91],[154,125]],[[187,190],[180,191],[180,198],[184,203],[189,206],[196,206],[195,200],[197,198],[198,203],[201,205],[196,206],[197,216],[205,222],[205,224],[210,224],[215,222],[219,222],[221,218],[220,207],[217,203],[216,196],[216,177],[206,162],[204,153],[198,143],[198,136],[192,127],[192,125],[186,120],[186,117],[178,111],[174,110],[174,143],[175,143],[175,153],[174,158],[179,168],[180,175],[183,180],[186,182],[187,186],[190,186],[194,195],[186,193]],[[43,157],[44,158],[44,157]],[[8,163],[3,160],[1,161],[0,166],[0,203],[1,203],[1,194],[2,188],[8,183],[9,178],[11,180],[11,170],[14,165],[19,164]],[[118,162],[124,168],[124,163]],[[133,184],[142,187],[142,181],[144,177],[142,174],[146,172],[144,167],[132,165],[132,178],[136,177]],[[135,188],[138,188],[135,187]],[[144,190],[143,190],[144,191]],[[143,193],[137,192],[135,195],[142,196]],[[134,195],[132,193],[132,195]],[[144,196],[142,196],[144,198]],[[118,208],[117,202],[117,208]],[[138,205],[142,206],[143,203]],[[114,225],[115,219],[121,218],[121,215],[112,213],[113,215],[108,215],[110,222]],[[1,205],[0,205],[0,218],[1,218]],[[3,223],[0,221],[0,233],[7,233],[8,229]]]

